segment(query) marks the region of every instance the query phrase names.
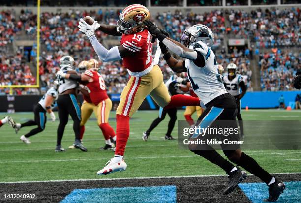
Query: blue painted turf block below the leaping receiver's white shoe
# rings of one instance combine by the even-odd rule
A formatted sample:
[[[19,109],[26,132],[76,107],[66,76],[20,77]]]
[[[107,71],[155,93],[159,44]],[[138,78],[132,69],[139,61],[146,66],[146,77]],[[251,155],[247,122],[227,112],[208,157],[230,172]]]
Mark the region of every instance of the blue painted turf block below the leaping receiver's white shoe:
[[[176,186],[76,189],[60,203],[176,203]]]

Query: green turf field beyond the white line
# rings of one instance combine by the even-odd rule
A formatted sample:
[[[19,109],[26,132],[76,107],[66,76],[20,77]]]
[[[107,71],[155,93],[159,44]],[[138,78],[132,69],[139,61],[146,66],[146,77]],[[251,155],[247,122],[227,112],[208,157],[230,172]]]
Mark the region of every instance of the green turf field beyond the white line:
[[[183,120],[183,111],[178,111],[178,119]],[[4,116],[1,114],[0,116]],[[11,115],[17,122],[33,118],[32,113]],[[155,177],[224,174],[222,170],[188,150],[180,150],[177,141],[165,141],[166,119],[144,142],[142,132],[158,116],[157,111],[139,111],[131,119],[130,138],[125,152],[127,170],[110,174],[104,178]],[[301,111],[249,110],[243,111],[244,120],[301,120]],[[110,123],[115,129],[115,112]],[[88,152],[67,149],[74,141],[72,121],[66,126],[62,146],[66,152],[55,153],[58,120],[46,123],[46,129],[30,138],[32,144],[19,140],[31,127],[22,128],[16,135],[7,124],[0,128],[0,182],[95,179],[96,172],[113,157],[112,151],[100,151],[104,139],[94,117],[86,124],[83,144]],[[173,131],[177,135],[177,126]],[[271,173],[301,172],[301,150],[249,150],[267,171]]]

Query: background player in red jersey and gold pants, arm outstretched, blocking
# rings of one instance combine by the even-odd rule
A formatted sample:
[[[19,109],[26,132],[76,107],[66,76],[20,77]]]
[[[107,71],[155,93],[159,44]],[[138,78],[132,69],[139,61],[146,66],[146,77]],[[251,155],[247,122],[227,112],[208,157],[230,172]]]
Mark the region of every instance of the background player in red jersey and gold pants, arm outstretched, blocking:
[[[106,85],[102,76],[97,72],[98,61],[90,59],[87,68],[88,70],[81,75],[71,75],[60,72],[57,74],[60,74],[63,78],[76,80],[86,85],[84,90],[81,90],[85,99],[81,107],[81,111],[85,112],[85,114],[82,114],[81,120],[81,138],[85,132],[85,123],[94,111],[98,126],[103,133],[106,143],[106,145],[100,149],[112,150],[111,139],[114,143],[116,141],[115,131],[108,123],[110,111],[112,109],[112,101],[107,94]]]

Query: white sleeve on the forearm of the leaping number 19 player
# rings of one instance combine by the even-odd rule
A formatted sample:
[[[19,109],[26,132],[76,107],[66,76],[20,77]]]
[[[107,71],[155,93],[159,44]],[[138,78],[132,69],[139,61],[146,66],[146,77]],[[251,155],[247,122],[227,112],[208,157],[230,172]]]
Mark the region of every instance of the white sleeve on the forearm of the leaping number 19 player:
[[[118,46],[115,46],[110,50],[107,50],[102,44],[99,43],[99,41],[95,36],[90,37],[89,40],[98,57],[104,62],[121,59],[120,53],[118,51]]]

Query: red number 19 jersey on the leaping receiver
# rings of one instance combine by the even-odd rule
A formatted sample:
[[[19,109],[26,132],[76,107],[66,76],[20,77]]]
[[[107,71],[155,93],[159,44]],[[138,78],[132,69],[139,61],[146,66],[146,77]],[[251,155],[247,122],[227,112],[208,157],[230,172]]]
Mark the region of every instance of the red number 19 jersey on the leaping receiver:
[[[151,33],[144,29],[134,34],[122,34],[120,45],[133,52],[133,56],[123,57],[124,67],[132,72],[141,72],[152,64]]]

